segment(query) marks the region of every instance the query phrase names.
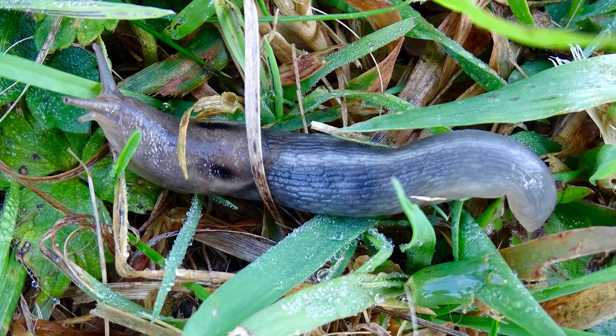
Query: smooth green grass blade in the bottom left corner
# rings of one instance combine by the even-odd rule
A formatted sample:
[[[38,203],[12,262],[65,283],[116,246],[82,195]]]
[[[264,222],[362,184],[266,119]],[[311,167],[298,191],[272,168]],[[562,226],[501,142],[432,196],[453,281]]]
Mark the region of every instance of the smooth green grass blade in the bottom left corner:
[[[15,260],[15,253],[7,256],[9,264],[0,276],[0,335],[7,335],[13,321],[17,301],[26,281],[26,269]]]

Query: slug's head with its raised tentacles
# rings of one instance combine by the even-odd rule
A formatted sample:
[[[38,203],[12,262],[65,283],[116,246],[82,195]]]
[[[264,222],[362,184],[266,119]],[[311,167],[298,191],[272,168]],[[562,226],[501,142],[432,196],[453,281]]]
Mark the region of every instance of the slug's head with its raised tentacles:
[[[113,81],[111,70],[99,44],[92,44],[92,48],[99,62],[101,84],[99,96],[91,99],[64,97],[62,101],[64,104],[91,111],[79,117],[80,123],[94,120],[105,129],[107,128],[106,126],[118,125],[123,107],[126,105],[127,100],[131,99],[124,96],[116,86],[115,81]]]

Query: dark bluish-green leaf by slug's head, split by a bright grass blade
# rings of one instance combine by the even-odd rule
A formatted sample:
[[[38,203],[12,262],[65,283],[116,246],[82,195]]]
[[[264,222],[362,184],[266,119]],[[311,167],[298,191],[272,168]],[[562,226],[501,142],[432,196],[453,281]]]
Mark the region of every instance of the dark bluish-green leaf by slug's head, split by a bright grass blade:
[[[89,80],[99,80],[94,55],[79,47],[68,47],[55,52],[46,64]],[[81,115],[86,114],[87,110],[63,104],[63,97],[60,93],[35,87],[28,91],[26,102],[41,125],[55,126],[65,132],[88,133],[91,122],[79,123],[77,120]]]

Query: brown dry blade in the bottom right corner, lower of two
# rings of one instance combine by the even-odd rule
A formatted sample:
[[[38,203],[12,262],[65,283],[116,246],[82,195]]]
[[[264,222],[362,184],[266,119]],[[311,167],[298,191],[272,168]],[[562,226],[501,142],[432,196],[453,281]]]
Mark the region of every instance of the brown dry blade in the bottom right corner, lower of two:
[[[561,327],[585,330],[616,317],[616,282],[541,303]]]

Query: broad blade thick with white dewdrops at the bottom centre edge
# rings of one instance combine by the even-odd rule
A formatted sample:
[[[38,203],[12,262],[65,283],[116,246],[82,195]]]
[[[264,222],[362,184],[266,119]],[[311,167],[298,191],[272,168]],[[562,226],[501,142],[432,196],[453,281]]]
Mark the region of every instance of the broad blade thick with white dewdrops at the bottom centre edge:
[[[245,335],[298,335],[403,293],[391,276],[349,274],[303,289],[241,322]]]

